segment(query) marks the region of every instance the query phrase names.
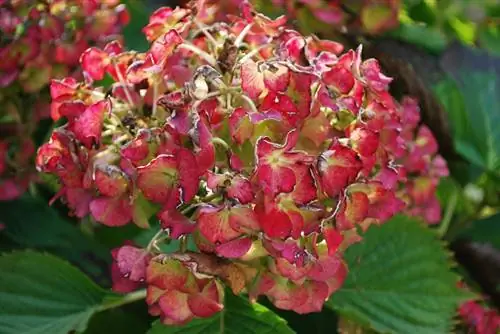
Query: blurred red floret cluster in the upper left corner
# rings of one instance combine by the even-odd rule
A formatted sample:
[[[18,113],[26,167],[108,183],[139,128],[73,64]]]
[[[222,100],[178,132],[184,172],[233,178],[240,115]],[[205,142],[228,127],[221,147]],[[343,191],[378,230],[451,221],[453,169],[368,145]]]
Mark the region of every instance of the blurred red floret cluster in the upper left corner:
[[[50,78],[81,77],[81,53],[116,39],[128,21],[118,0],[0,0],[0,200],[33,178],[31,135],[50,115]]]

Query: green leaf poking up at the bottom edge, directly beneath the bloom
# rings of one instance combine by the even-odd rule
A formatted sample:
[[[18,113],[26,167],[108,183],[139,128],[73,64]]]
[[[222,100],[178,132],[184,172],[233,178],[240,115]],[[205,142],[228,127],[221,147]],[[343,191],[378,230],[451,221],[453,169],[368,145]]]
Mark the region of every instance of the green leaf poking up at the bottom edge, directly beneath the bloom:
[[[260,304],[226,293],[224,310],[207,319],[196,319],[184,326],[165,326],[155,321],[148,334],[288,334],[293,331],[285,320]]]

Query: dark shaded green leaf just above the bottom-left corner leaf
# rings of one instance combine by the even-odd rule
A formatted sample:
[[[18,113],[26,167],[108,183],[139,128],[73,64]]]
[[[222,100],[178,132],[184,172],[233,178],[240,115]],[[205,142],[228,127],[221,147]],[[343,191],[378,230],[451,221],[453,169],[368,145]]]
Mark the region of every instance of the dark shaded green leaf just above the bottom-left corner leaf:
[[[82,268],[87,274],[106,281],[109,251],[92,240],[72,221],[59,215],[42,199],[29,195],[0,202],[2,232],[22,247],[49,251]]]

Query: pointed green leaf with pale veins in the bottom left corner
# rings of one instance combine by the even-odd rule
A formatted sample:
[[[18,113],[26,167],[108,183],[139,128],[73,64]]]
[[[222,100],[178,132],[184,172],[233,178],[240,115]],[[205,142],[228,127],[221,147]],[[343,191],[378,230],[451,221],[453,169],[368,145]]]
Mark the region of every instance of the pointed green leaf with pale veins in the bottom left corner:
[[[83,331],[108,293],[69,263],[33,251],[0,257],[0,333]]]

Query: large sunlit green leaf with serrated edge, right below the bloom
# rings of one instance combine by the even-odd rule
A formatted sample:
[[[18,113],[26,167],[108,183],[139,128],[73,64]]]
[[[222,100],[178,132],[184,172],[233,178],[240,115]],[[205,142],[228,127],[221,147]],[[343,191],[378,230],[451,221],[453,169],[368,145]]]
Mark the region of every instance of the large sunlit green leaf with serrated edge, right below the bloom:
[[[345,254],[349,275],[327,302],[341,316],[388,333],[449,333],[465,293],[435,234],[397,216]]]

